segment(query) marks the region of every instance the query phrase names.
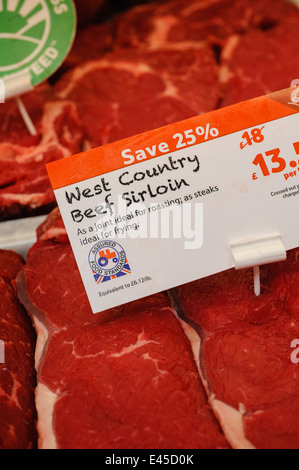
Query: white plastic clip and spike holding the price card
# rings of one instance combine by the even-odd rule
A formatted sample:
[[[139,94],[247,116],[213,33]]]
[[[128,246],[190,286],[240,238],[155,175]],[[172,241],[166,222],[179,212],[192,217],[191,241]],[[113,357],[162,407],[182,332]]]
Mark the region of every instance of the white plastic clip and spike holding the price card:
[[[231,251],[236,269],[253,267],[256,295],[261,291],[259,266],[283,261],[287,256],[279,233],[232,242]]]

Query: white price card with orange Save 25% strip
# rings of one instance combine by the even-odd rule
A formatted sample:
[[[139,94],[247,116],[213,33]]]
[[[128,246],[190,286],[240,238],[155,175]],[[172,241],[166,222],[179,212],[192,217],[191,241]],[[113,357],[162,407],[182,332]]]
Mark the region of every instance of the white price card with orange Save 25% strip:
[[[94,313],[299,246],[299,88],[47,165]]]

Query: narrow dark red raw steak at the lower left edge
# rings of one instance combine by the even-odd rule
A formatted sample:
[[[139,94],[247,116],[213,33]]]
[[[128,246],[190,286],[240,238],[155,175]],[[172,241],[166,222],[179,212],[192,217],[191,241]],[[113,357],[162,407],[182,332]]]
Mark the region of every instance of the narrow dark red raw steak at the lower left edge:
[[[23,264],[19,255],[0,250],[0,449],[37,445],[35,332],[15,289]]]

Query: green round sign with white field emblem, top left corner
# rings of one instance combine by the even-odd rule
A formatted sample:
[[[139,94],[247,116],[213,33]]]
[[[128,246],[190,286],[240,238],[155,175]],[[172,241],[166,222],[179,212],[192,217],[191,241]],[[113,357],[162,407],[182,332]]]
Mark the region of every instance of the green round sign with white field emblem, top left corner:
[[[72,0],[0,0],[0,77],[29,72],[32,85],[52,75],[76,33]]]

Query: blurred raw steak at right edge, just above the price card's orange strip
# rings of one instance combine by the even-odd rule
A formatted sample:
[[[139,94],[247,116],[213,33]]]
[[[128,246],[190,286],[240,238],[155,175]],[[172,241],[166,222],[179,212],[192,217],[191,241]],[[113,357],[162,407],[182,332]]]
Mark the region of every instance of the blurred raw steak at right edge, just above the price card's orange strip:
[[[222,106],[288,88],[299,78],[299,18],[232,36],[222,51]]]

